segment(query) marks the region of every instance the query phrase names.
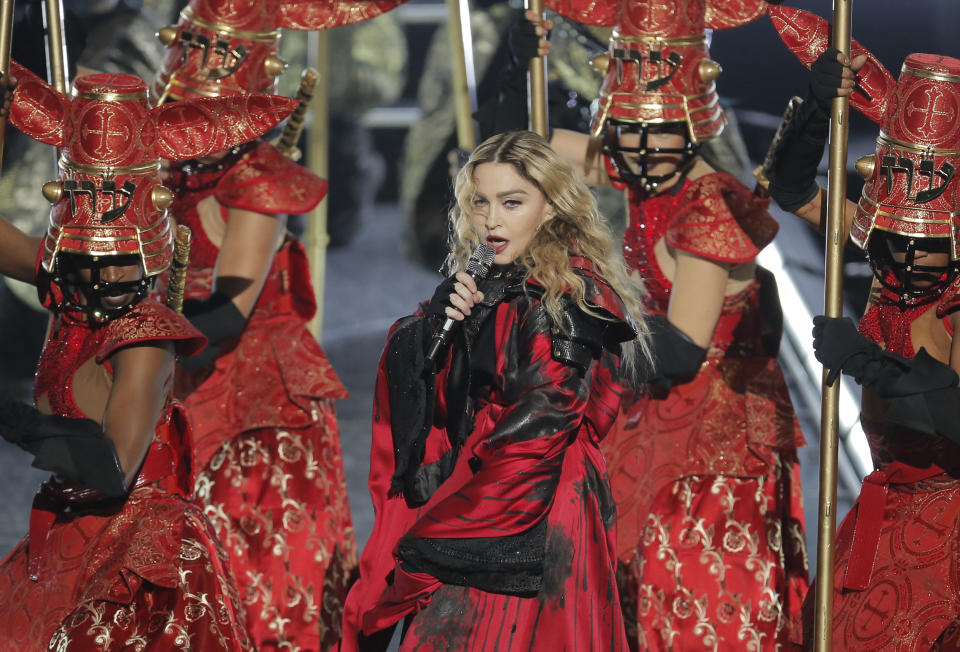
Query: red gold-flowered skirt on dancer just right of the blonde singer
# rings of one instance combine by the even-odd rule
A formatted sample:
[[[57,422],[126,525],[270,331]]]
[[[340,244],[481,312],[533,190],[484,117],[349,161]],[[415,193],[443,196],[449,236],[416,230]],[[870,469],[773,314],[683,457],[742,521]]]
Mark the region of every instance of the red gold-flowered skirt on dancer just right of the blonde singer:
[[[620,557],[634,649],[787,649],[807,590],[799,466],[675,481]]]

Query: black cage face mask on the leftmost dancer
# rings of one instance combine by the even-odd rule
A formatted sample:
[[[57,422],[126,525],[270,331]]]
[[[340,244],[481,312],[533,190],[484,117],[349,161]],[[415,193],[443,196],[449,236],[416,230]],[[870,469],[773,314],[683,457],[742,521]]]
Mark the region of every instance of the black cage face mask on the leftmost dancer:
[[[60,254],[54,262],[52,283],[63,292],[60,308],[80,312],[93,324],[105,324],[130,311],[153,288],[156,277],[144,277],[133,281],[108,282],[100,279],[104,267],[139,265],[136,254],[124,256],[90,256],[83,254]],[[83,281],[80,270],[90,270],[90,281]],[[105,303],[103,299],[132,294],[119,306]],[[81,300],[82,297],[82,300]]]

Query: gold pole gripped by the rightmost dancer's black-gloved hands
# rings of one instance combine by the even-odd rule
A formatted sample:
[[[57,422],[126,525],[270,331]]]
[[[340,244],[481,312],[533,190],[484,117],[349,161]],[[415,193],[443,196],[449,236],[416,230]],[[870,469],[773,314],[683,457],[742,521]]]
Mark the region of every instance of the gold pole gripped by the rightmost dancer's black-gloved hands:
[[[834,0],[831,42],[850,56],[852,0]],[[847,137],[849,99],[833,100],[830,118],[830,169],[827,183],[826,287],[824,312],[827,317],[843,315],[844,213],[847,200]],[[823,370],[823,398],[820,413],[820,502],[817,513],[817,593],[814,649],[833,648],[833,540],[837,524],[837,449],[840,413],[840,380],[832,387]]]

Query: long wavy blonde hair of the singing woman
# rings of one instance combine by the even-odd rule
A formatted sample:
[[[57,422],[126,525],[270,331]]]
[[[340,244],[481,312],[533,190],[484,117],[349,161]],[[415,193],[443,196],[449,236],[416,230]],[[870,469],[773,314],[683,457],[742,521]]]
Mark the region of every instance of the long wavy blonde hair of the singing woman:
[[[597,208],[597,200],[577,175],[541,136],[531,131],[497,134],[481,143],[463,166],[454,187],[456,203],[451,207],[450,252],[445,262],[448,274],[466,269],[480,236],[471,223],[476,193],[474,171],[484,163],[509,163],[524,179],[540,189],[554,209],[551,219],[537,229],[527,251],[516,261],[525,278],[544,289],[541,299],[550,320],[562,328],[560,318],[564,295],[569,294],[586,313],[603,318],[587,303],[586,286],[570,266],[570,249],[594,264],[597,272],[616,291],[637,328],[638,337],[623,345],[622,364],[630,374],[641,366],[639,357],[649,359],[647,329],[640,308],[643,286],[627,274],[620,247]]]

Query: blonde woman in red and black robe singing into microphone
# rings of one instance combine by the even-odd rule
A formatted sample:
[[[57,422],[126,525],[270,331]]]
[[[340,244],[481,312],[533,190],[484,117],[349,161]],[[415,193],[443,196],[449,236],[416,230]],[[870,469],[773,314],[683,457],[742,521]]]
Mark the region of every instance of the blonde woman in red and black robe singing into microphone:
[[[406,619],[401,650],[625,650],[598,443],[639,304],[596,200],[540,136],[481,144],[455,193],[455,275],[380,363],[376,521],[341,649],[386,649]],[[481,243],[493,269],[475,281]],[[425,352],[448,317],[435,372]]]

